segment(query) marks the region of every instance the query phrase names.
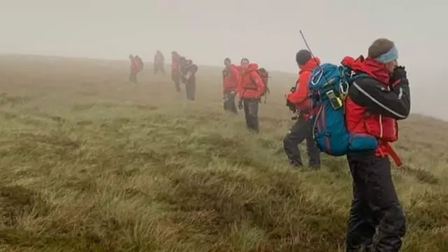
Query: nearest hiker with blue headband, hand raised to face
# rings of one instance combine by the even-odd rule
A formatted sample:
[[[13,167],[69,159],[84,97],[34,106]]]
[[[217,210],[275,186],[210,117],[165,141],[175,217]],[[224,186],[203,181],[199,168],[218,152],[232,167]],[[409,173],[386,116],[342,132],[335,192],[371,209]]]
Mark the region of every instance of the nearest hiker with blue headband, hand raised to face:
[[[368,245],[370,251],[400,251],[406,220],[391,178],[391,156],[401,165],[389,142],[398,139],[397,120],[406,119],[410,92],[404,66],[398,66],[398,50],[386,38],[375,40],[367,58],[345,57],[342,64],[354,73],[346,98],[346,127],[349,132],[371,135],[378,147],[347,153],[353,179],[353,200],[346,230],[346,251]],[[377,229],[373,248],[372,237]]]

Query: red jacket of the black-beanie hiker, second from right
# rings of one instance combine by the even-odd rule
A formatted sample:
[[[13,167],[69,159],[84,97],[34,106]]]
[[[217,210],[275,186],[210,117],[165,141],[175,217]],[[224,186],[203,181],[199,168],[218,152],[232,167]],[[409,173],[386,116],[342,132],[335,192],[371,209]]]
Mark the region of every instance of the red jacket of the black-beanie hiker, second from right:
[[[302,66],[302,69],[299,71],[299,76],[297,77],[297,82],[295,83],[295,91],[288,94],[286,99],[292,104],[295,104],[297,110],[304,111],[304,116],[307,116],[306,113],[311,109],[311,104],[308,98],[308,80],[311,76],[311,72],[321,64],[321,60],[318,57],[314,57],[309,59],[307,64]]]

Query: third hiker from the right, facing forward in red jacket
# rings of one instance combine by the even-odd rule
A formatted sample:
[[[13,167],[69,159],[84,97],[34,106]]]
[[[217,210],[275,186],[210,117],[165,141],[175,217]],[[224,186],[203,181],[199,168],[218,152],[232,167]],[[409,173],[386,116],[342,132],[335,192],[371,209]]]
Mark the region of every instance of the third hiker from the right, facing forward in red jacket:
[[[250,63],[246,58],[241,59],[241,66],[239,67],[240,85],[237,90],[239,94],[238,109],[244,108],[246,126],[255,133],[260,131],[258,103],[262,92],[265,90],[257,69],[258,64]]]

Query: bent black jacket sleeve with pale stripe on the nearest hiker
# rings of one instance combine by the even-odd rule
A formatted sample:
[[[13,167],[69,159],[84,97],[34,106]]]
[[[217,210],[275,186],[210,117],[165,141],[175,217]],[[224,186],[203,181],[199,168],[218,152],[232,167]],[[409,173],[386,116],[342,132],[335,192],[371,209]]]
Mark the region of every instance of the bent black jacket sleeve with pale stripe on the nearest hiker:
[[[409,116],[409,83],[403,79],[391,90],[373,78],[358,78],[349,88],[349,97],[371,113],[402,120]]]

